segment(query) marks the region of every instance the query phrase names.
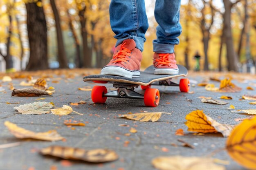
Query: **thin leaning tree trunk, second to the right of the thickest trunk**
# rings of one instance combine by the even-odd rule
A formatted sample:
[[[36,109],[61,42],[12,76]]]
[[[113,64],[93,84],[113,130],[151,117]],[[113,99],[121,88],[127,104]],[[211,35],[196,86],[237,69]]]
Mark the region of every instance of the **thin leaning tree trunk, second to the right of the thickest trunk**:
[[[75,42],[75,45],[76,45],[76,58],[75,58],[76,67],[81,68],[82,67],[82,62],[81,62],[81,56],[80,56],[80,43],[79,43],[78,37],[76,35],[76,31],[74,29],[74,26],[72,24],[71,16],[70,16],[70,13],[68,12],[68,10],[67,10],[67,16],[68,16],[68,24],[70,26],[70,30],[72,32],[74,42]]]

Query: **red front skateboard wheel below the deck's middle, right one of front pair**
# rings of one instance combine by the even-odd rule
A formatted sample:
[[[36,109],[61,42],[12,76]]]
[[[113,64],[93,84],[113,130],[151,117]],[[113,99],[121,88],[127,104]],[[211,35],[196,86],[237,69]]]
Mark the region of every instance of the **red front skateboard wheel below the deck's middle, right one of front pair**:
[[[145,106],[156,107],[159,104],[159,90],[157,88],[147,88],[144,93]]]

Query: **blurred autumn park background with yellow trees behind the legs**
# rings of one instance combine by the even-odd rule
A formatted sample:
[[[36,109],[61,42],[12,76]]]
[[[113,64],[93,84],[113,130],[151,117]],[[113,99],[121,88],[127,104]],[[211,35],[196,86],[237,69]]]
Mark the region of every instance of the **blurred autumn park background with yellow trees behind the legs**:
[[[155,0],[142,68],[152,64]],[[101,68],[115,45],[110,0],[0,0],[0,71]],[[182,0],[176,59],[190,70],[255,74],[256,0]]]

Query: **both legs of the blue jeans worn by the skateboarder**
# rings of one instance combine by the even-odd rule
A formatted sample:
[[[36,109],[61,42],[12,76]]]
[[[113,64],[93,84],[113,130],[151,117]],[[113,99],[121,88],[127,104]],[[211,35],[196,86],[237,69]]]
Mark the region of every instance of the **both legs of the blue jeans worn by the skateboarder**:
[[[157,39],[153,41],[154,52],[173,53],[174,45],[179,44],[177,37],[182,32],[180,1],[156,0],[155,19],[159,25]],[[116,34],[116,46],[126,39],[134,39],[136,48],[143,51],[148,29],[144,0],[111,0],[109,11],[111,28]]]

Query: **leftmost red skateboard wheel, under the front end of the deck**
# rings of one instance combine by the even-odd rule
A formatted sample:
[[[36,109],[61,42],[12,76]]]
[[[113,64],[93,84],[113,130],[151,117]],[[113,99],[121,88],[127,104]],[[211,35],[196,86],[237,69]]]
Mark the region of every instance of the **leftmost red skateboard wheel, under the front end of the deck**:
[[[94,86],[92,88],[92,102],[94,103],[105,103],[107,97],[103,97],[103,94],[108,93],[108,90],[105,86]]]

